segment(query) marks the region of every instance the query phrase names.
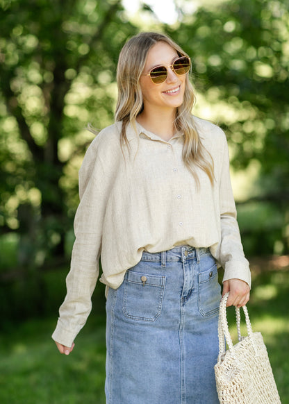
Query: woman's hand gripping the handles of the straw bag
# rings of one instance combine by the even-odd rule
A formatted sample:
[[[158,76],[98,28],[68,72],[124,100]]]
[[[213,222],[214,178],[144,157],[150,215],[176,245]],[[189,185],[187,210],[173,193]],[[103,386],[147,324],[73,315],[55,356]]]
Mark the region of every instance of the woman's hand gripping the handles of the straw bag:
[[[250,287],[244,281],[240,279],[229,279],[225,280],[223,283],[223,296],[229,293],[228,300],[226,302],[226,307],[231,305],[241,308],[244,306],[250,298]]]

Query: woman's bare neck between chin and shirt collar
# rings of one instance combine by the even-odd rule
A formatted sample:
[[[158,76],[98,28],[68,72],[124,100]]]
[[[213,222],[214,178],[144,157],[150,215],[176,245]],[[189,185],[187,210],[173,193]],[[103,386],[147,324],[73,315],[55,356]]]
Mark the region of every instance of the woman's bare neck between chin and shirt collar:
[[[155,110],[143,110],[138,116],[137,121],[147,131],[155,133],[163,140],[170,140],[174,136],[176,128],[174,126],[174,119],[176,117],[176,110],[163,110],[158,108]]]

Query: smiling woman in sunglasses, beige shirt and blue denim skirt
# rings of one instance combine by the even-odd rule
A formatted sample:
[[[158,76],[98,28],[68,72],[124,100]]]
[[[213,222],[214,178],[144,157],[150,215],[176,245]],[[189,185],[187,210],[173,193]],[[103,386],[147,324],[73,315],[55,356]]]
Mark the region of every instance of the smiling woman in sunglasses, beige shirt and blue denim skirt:
[[[79,174],[76,241],[53,339],[69,354],[91,310],[101,255],[110,404],[218,403],[217,312],[249,300],[222,130],[193,117],[190,58],[141,33],[117,66],[115,124]]]

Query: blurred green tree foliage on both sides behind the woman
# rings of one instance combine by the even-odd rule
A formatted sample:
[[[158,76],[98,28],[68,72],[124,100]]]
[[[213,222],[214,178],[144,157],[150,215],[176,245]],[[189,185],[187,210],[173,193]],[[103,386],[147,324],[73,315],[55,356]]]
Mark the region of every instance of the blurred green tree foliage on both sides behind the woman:
[[[209,108],[224,127],[233,166],[260,167],[252,198],[238,205],[245,252],[285,254],[288,8],[205,3],[156,29],[192,56],[197,115]],[[85,126],[112,123],[119,50],[139,28],[121,0],[0,1],[0,26],[0,294],[14,318],[20,308],[47,312],[44,268],[69,259],[78,170],[94,136]]]

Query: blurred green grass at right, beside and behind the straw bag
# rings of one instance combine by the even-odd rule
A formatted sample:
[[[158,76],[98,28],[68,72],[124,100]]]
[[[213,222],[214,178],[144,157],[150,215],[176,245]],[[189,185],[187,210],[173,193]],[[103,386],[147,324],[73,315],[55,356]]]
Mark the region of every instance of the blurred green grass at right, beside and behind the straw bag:
[[[253,331],[263,335],[282,404],[289,404],[289,278],[287,271],[265,271],[253,277],[247,305]],[[228,309],[229,326],[237,340],[235,310]],[[242,314],[242,313],[241,313]],[[242,316],[242,335],[246,334]]]

